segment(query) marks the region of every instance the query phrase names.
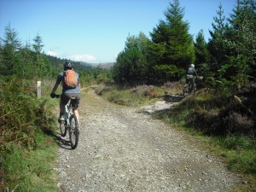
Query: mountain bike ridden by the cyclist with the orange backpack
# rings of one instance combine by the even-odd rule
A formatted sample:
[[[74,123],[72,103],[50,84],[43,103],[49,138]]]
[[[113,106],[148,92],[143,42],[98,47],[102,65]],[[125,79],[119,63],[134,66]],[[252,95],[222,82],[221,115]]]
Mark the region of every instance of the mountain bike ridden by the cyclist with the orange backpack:
[[[61,95],[55,95],[55,98],[60,98]],[[71,100],[74,98],[71,98]],[[69,101],[65,105],[64,121],[59,120],[61,137],[66,137],[69,132],[71,148],[77,148],[79,144],[79,121],[75,113],[73,113],[72,102]]]

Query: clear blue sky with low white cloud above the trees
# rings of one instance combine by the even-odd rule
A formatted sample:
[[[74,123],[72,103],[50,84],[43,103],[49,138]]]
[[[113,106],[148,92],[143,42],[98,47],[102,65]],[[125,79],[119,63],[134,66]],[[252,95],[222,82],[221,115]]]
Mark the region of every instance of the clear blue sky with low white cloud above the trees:
[[[172,0],[0,0],[0,38],[10,23],[26,43],[39,34],[44,53],[90,63],[113,62],[128,35],[149,32],[165,20]],[[189,33],[210,38],[219,3],[229,17],[236,0],[180,0]]]

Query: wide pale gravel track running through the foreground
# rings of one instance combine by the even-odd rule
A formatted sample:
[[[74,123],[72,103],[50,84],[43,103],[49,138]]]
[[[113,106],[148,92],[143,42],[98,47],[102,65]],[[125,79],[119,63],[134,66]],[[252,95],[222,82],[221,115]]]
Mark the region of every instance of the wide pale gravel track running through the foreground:
[[[137,108],[82,92],[75,150],[59,149],[59,191],[234,191],[238,177],[195,138]],[[68,140],[68,138],[66,138]]]

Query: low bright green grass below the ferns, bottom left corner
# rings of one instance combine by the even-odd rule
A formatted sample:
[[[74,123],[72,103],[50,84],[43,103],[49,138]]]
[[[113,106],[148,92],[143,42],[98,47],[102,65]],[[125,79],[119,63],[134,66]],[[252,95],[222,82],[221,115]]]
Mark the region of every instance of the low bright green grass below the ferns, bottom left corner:
[[[40,136],[39,136],[40,135]],[[15,191],[56,191],[53,164],[56,144],[44,133],[38,134],[38,147],[33,150],[15,144],[7,146],[4,160],[5,188]]]

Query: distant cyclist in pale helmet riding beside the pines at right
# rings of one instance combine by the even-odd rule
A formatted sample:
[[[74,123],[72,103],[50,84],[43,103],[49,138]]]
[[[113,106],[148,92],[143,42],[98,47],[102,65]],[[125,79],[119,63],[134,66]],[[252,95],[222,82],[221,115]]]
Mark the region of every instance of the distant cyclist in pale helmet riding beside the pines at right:
[[[186,84],[184,87],[185,96],[189,95],[190,92],[194,92],[196,90],[195,77],[197,77],[195,65],[191,64],[187,70],[186,75]]]

